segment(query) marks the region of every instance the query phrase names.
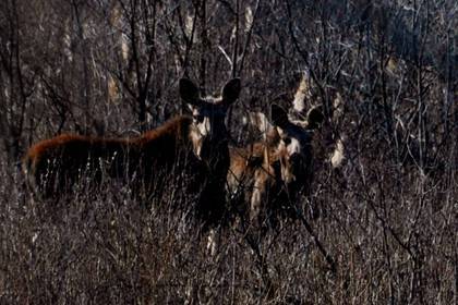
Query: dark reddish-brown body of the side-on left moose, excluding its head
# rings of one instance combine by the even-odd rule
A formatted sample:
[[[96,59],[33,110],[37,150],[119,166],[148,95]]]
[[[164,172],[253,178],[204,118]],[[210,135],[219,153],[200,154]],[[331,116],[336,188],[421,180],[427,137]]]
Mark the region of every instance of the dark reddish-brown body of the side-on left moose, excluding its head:
[[[191,118],[178,117],[132,138],[62,134],[29,148],[25,171],[34,190],[45,198],[70,192],[84,178],[99,185],[108,176],[147,191],[155,176],[171,171],[176,160],[200,167],[188,136],[191,124]]]

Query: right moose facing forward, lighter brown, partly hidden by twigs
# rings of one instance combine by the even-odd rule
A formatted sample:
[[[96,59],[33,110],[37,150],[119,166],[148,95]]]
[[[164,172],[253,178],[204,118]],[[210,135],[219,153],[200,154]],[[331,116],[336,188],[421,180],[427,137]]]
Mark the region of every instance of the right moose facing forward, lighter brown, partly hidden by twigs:
[[[263,113],[251,115],[260,130],[265,129],[264,141],[230,148],[229,193],[237,209],[242,210],[242,215],[249,213],[255,225],[263,224],[263,220],[274,220],[263,217],[265,213],[294,212],[298,196],[309,192],[313,175],[313,133],[323,121],[318,107],[308,112],[306,120],[290,120],[275,103],[270,112],[273,124]]]

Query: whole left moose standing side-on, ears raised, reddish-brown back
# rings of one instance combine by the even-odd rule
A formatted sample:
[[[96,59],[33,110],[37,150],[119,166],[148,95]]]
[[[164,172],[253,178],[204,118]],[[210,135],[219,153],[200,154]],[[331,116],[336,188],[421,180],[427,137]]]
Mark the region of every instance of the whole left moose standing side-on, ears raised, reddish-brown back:
[[[233,78],[219,96],[202,97],[193,82],[181,78],[180,96],[192,115],[176,117],[136,137],[62,134],[41,141],[23,159],[27,182],[40,197],[50,198],[71,192],[86,175],[94,186],[108,175],[150,195],[160,174],[188,171],[194,176],[192,188],[198,187],[197,212],[207,222],[218,221],[230,164],[225,117],[240,89],[240,80]]]

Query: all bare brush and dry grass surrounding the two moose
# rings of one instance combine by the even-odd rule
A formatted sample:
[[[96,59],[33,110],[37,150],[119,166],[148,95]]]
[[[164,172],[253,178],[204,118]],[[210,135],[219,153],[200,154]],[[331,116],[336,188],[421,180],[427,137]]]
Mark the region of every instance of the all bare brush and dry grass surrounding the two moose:
[[[457,5],[0,1],[0,304],[457,304]],[[246,113],[290,108],[304,71],[325,120],[303,221],[260,236],[232,217],[210,255],[173,183],[147,203],[117,181],[60,200],[25,186],[33,143],[160,125],[185,111],[183,75],[206,94],[242,80],[242,146]]]

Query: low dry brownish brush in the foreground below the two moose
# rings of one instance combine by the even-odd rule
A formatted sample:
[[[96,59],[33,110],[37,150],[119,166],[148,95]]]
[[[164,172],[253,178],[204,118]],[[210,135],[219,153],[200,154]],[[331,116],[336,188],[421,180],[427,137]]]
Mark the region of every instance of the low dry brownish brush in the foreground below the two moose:
[[[174,208],[173,186],[152,208],[112,184],[43,203],[3,166],[1,303],[451,304],[454,176],[360,166],[345,187],[318,179],[302,207],[320,210],[308,220],[336,273],[300,222],[285,220],[255,245],[237,223],[222,228],[212,256],[189,211]]]

